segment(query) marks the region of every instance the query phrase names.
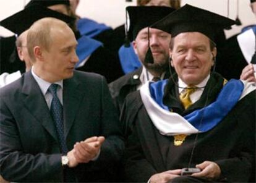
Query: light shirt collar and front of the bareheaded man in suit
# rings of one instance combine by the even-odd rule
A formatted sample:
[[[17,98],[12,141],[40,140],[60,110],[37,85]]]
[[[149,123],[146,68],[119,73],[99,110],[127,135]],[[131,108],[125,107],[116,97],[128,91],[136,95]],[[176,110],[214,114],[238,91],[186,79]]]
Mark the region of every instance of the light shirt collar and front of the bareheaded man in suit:
[[[43,96],[45,96],[45,101],[47,103],[48,108],[50,109],[51,100],[53,100],[53,95],[48,91],[48,88],[52,83],[49,83],[46,80],[43,80],[40,77],[38,77],[38,75],[36,75],[35,72],[33,71],[33,66],[32,66],[32,75],[33,75],[34,79],[36,80],[36,82],[38,83],[38,85],[43,93]],[[59,87],[57,88],[57,95],[58,95],[59,101],[63,105],[63,94],[62,94],[63,93],[63,80],[60,80],[60,81],[54,82],[54,83],[59,85]]]

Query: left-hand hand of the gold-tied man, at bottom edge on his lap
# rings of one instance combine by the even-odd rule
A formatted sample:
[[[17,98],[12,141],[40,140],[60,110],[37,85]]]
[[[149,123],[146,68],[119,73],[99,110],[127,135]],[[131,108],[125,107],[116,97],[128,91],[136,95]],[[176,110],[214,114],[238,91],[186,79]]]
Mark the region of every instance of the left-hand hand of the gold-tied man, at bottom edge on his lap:
[[[164,171],[159,174],[154,174],[150,177],[150,183],[167,183],[174,179],[175,177],[179,177],[181,174],[181,169],[174,169],[169,171]]]

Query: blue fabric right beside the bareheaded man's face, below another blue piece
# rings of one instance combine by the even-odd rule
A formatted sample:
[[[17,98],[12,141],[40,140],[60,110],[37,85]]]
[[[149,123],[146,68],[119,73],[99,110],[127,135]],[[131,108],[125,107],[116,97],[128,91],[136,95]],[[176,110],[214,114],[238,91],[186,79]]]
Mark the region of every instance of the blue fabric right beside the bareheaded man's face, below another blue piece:
[[[75,68],[79,66],[79,64],[90,54],[92,54],[97,48],[103,46],[100,41],[93,40],[92,38],[88,38],[87,36],[81,36],[79,40],[77,40],[77,56],[79,57],[79,62],[75,64]]]

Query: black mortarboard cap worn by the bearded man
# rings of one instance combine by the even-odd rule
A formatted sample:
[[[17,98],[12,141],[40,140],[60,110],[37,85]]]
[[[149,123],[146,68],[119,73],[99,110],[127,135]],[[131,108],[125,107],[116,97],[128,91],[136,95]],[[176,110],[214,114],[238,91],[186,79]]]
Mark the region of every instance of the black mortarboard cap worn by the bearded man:
[[[129,14],[130,26],[128,38],[130,41],[135,40],[137,34],[145,27],[149,27],[158,20],[163,19],[166,15],[175,9],[164,6],[128,6],[126,11]]]

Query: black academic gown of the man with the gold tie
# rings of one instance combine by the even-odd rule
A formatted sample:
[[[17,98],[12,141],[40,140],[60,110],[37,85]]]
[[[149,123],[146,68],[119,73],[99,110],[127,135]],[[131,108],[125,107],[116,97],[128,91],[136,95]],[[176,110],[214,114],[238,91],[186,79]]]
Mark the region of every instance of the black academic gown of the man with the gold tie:
[[[184,110],[177,99],[177,88],[169,82],[164,104],[185,116],[215,101],[222,87],[223,78],[211,75],[200,100]],[[255,96],[256,92],[252,91],[216,127],[198,134],[190,167],[206,160],[214,161],[221,168],[218,181],[255,181]],[[124,153],[127,182],[147,182],[153,174],[188,166],[196,135],[189,135],[181,146],[174,146],[174,138],[161,135],[153,125],[139,91],[127,96],[121,121],[127,137]]]

